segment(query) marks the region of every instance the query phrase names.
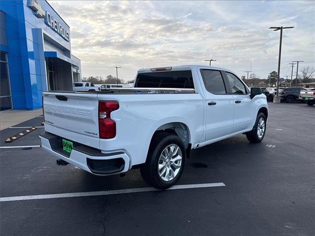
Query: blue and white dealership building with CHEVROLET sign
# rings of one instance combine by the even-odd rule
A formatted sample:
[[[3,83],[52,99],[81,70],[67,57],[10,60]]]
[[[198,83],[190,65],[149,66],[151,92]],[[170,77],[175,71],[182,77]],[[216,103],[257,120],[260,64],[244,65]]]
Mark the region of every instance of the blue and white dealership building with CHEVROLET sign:
[[[42,91],[81,81],[70,27],[45,0],[0,1],[0,111],[42,107]]]

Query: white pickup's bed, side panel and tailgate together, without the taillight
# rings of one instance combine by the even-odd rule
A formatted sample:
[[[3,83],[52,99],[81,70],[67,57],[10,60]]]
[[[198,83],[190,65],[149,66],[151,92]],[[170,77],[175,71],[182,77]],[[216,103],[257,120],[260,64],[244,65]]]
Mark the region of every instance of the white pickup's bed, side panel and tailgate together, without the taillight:
[[[119,102],[119,109],[111,113],[116,122],[115,138],[99,138],[99,101]],[[46,132],[102,152],[128,150],[132,165],[143,163],[153,133],[163,124],[187,124],[196,134],[191,137],[192,144],[204,137],[204,102],[194,89],[47,91],[43,92],[43,109]],[[146,148],[139,148],[139,144]]]

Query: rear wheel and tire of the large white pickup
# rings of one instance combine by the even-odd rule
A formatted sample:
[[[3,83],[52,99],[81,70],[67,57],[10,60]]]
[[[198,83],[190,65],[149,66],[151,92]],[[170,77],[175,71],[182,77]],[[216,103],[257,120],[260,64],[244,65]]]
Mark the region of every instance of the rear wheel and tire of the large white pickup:
[[[165,149],[169,153],[176,149],[177,151],[173,156],[169,155],[167,158]],[[166,158],[162,156],[162,153]],[[185,161],[186,150],[182,140],[173,134],[159,133],[151,141],[147,161],[140,167],[140,173],[143,180],[149,185],[158,189],[166,189],[173,186],[182,176]]]

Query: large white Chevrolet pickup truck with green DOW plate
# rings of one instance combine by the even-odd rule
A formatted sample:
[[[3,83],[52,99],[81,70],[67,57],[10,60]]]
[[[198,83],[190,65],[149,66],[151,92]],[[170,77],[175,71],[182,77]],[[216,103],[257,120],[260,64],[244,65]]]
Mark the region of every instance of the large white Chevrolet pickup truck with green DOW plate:
[[[268,106],[230,70],[203,66],[140,69],[134,88],[43,92],[41,147],[95,175],[140,167],[165,189],[181,177],[191,149],[246,134],[262,141]]]

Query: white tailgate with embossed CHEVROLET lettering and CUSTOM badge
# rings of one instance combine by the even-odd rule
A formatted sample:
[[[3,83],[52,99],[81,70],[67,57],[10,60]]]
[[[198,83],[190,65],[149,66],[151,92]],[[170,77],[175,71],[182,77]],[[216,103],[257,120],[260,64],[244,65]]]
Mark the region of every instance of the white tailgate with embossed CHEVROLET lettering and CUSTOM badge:
[[[97,94],[43,92],[45,131],[99,148]]]

